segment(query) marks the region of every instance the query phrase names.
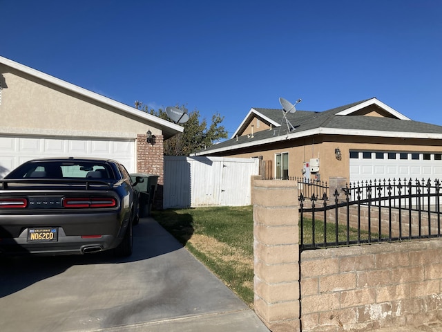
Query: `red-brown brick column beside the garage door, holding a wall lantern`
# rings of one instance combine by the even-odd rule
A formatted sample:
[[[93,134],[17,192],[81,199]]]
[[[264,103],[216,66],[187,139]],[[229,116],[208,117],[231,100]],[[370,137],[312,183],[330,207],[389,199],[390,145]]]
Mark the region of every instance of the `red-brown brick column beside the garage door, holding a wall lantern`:
[[[158,175],[157,192],[153,207],[162,209],[164,185],[163,136],[155,136],[155,144],[146,142],[146,134],[137,136],[137,173]]]

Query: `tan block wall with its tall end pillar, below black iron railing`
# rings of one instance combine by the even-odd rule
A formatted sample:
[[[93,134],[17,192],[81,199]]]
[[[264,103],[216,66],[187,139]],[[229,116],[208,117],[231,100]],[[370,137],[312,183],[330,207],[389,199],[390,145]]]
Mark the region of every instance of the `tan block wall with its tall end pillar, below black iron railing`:
[[[296,182],[252,185],[254,304],[271,331],[394,331],[441,317],[442,240],[300,253]]]

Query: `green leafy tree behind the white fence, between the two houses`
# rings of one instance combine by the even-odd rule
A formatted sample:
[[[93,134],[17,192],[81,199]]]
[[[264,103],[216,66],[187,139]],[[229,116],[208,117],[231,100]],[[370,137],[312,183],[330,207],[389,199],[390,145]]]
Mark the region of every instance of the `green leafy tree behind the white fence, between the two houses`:
[[[142,102],[135,102],[135,108],[171,121],[163,109],[158,109],[157,111],[148,109]],[[184,106],[178,108],[182,111],[185,110]],[[185,123],[180,123],[180,126],[184,127],[184,131],[164,141],[164,154],[166,156],[189,156],[195,151],[211,147],[222,138],[227,138],[227,131],[221,125],[224,117],[220,116],[220,114],[216,113],[212,116],[209,127],[207,127],[205,118],[200,121],[200,111],[197,109],[189,112],[188,115],[189,120]]]

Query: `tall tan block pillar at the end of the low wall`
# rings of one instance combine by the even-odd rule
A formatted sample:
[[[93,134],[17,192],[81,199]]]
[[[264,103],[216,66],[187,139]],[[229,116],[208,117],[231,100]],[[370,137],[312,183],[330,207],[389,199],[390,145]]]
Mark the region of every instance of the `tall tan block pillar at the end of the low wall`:
[[[298,184],[253,181],[254,306],[273,332],[300,331]]]

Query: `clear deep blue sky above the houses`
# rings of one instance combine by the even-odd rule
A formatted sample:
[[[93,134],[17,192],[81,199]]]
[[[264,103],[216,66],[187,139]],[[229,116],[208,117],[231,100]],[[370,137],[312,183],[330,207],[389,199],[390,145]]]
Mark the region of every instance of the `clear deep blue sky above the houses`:
[[[0,0],[0,55],[134,106],[325,111],[376,97],[442,125],[442,1]]]

